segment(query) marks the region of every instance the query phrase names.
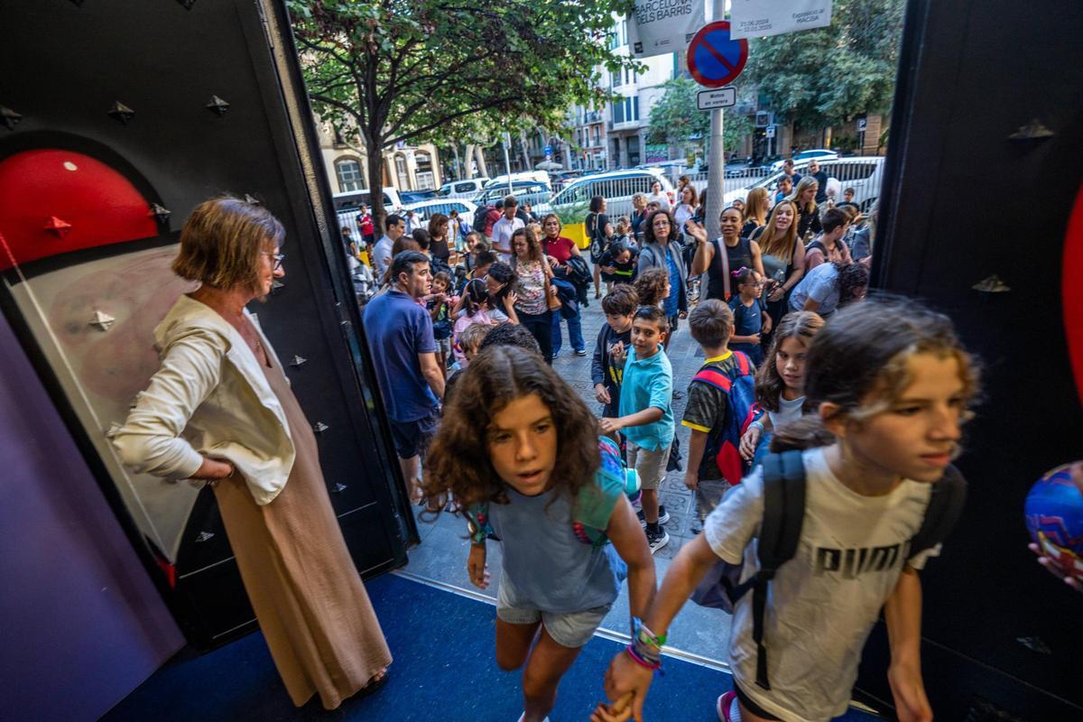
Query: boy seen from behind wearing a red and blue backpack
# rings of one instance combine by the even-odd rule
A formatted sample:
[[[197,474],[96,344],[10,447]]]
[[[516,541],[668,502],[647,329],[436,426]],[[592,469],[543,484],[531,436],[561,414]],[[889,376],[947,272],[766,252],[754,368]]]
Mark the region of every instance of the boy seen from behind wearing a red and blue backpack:
[[[703,349],[704,362],[688,385],[681,419],[681,425],[690,430],[684,486],[695,494],[702,526],[726,490],[739,484],[748,469],[739,446],[742,426],[756,413],[755,377],[748,357],[729,347],[733,314],[723,302],[701,301],[688,315],[688,326]]]

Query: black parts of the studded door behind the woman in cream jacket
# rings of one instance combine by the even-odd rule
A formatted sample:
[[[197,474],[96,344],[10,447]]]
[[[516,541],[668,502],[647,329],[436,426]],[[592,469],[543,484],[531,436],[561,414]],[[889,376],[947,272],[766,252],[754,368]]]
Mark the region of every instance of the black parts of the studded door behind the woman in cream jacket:
[[[160,199],[171,215],[158,238],[103,251],[116,253],[105,258],[117,263],[125,253],[175,239],[195,205],[222,192],[250,193],[282,220],[288,275],[265,304],[251,310],[283,363],[296,355],[306,359],[288,369],[292,390],[309,421],[323,429],[321,464],[331,503],[354,562],[371,576],[406,563],[413,516],[399,513],[407,510],[401,473],[374,393],[341,240],[324,202],[330,192],[298,84],[284,5],[280,0],[200,1],[191,9],[173,0],[0,3],[0,104],[22,115],[14,128],[0,126],[0,159],[70,143],[92,157],[107,149],[122,160],[117,167],[130,167],[142,179],[136,185],[144,196]],[[206,107],[212,95],[230,103],[224,115]],[[115,101],[134,110],[129,122],[107,114]],[[62,208],[63,202],[56,199]],[[78,253],[56,248],[48,264],[75,268],[82,262]],[[29,281],[10,274],[8,280],[32,286],[38,271],[32,266],[45,261],[26,264]],[[106,294],[87,296],[88,309],[127,316],[122,305],[110,311]],[[35,313],[25,304],[4,303],[3,313],[11,314],[27,347],[51,342],[42,334],[30,338],[23,328],[21,321]],[[153,342],[151,328],[139,337],[144,346],[131,342],[133,353]],[[56,369],[44,366],[38,370],[48,379]],[[47,388],[55,389],[49,382]],[[62,391],[53,401],[66,411]],[[89,441],[100,442],[107,425],[75,433],[108,494],[123,482],[110,477],[100,447]],[[153,564],[149,569],[162,581],[188,641],[207,647],[251,631],[256,620],[211,495],[204,496],[187,520],[175,588],[166,586],[169,575]],[[125,522],[135,516],[118,511]]]

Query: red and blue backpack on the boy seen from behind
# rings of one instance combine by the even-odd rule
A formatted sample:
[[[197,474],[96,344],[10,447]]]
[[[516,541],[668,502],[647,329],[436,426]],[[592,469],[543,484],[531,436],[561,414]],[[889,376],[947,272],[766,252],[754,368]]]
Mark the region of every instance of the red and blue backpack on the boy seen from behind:
[[[751,470],[751,463],[741,458],[741,437],[762,411],[756,403],[752,362],[740,351],[733,352],[733,360],[736,367],[729,372],[708,366],[692,377],[692,383],[709,383],[726,392],[726,420],[721,428],[710,430],[704,454],[715,459],[727,482],[739,484]]]

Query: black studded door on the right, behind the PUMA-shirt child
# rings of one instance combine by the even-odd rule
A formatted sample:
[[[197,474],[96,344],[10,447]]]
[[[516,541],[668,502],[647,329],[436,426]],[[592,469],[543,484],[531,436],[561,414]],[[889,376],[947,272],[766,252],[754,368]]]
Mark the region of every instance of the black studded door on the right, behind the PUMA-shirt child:
[[[1083,458],[1060,294],[1061,275],[1081,273],[1061,268],[1083,161],[1081,37],[1079,2],[909,5],[874,284],[950,314],[986,386],[958,462],[966,511],[923,573],[938,719],[979,697],[1025,720],[1083,719],[1083,598],[1034,563],[1023,523],[1034,481]],[[1032,119],[1054,134],[1010,137]],[[992,274],[1010,291],[973,288]],[[885,659],[860,684],[890,699]]]

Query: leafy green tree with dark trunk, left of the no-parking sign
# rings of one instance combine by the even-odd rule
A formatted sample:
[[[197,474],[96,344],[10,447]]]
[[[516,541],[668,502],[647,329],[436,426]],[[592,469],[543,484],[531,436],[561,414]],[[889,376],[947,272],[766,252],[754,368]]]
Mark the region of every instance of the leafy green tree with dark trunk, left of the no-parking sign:
[[[609,49],[613,12],[628,0],[289,0],[315,111],[360,134],[368,187],[383,149],[440,140],[471,117],[514,129],[604,100],[597,74],[634,61]],[[469,142],[469,137],[464,139]],[[381,194],[371,194],[382,224]]]

